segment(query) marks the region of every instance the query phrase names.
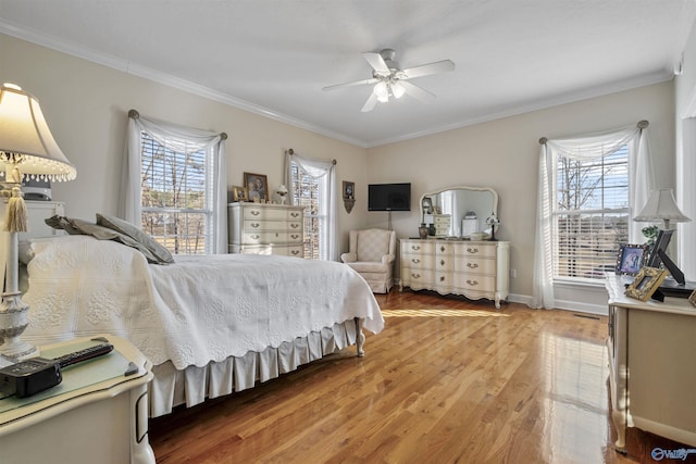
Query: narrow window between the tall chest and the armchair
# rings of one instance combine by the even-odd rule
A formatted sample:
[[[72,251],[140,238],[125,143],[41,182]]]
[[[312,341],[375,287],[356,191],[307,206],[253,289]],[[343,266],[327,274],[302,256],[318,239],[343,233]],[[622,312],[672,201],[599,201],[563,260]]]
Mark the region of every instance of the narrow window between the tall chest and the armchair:
[[[304,259],[327,260],[328,175],[313,177],[298,163],[290,162],[293,204],[304,206]]]

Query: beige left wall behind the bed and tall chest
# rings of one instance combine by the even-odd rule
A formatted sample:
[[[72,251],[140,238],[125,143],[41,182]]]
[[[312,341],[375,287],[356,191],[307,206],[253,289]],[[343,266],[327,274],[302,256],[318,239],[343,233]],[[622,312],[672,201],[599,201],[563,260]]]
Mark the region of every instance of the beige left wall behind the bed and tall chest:
[[[59,146],[77,168],[77,179],[54,185],[53,198],[67,214],[94,221],[115,214],[127,112],[228,135],[227,184],[241,185],[243,173],[265,174],[275,189],[283,176],[284,152],[337,160],[337,191],[341,180],[366,190],[365,150],[254,113],[238,110],[111,67],[49,50],[0,34],[0,81],[34,93]],[[338,209],[340,249],[347,230],[366,221],[366,199],[357,198],[347,214]]]

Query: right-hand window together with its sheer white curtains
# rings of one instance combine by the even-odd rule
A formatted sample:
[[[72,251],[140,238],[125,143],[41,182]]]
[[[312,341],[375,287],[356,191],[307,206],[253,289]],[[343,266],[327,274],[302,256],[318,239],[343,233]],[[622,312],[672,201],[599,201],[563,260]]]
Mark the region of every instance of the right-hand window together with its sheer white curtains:
[[[604,278],[620,242],[639,243],[642,208],[652,185],[649,123],[569,138],[539,139],[539,176],[530,306],[556,308],[556,283]],[[568,293],[564,298],[568,297]]]

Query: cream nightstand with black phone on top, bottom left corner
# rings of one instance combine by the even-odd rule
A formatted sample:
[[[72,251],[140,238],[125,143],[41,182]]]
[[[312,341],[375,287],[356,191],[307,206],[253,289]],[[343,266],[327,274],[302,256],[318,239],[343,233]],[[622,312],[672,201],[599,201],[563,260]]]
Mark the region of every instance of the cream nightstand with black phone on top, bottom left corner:
[[[127,340],[62,369],[63,381],[27,398],[0,400],[3,463],[154,463],[148,441],[151,363]],[[91,338],[40,348],[44,358],[82,350]]]

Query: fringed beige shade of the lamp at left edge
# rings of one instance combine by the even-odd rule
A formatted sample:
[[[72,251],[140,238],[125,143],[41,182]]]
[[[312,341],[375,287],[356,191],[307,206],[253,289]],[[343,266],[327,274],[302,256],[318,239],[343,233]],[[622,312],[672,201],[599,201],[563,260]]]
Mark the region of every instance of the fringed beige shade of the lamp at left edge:
[[[13,84],[0,86],[0,161],[9,164],[8,173],[16,164],[33,178],[63,181],[77,176],[55,143],[38,100]],[[12,179],[5,174],[5,180]]]

